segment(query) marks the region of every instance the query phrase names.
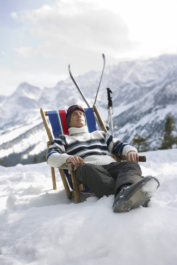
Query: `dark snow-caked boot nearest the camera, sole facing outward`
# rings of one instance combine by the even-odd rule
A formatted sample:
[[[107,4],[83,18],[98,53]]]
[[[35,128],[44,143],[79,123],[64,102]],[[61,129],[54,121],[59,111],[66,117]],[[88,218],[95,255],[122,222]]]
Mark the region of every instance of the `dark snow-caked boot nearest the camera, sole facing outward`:
[[[159,185],[156,178],[147,176],[135,184],[123,188],[114,199],[114,213],[128,212],[130,209],[145,203],[151,198]]]

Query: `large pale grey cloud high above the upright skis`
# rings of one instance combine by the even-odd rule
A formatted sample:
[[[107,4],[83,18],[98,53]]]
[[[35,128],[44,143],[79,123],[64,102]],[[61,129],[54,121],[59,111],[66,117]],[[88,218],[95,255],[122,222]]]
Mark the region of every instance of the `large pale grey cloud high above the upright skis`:
[[[56,1],[29,12],[31,34],[42,39],[38,52],[60,57],[72,49],[111,56],[134,49],[126,23],[114,11],[86,1]],[[61,52],[60,52],[61,51]]]

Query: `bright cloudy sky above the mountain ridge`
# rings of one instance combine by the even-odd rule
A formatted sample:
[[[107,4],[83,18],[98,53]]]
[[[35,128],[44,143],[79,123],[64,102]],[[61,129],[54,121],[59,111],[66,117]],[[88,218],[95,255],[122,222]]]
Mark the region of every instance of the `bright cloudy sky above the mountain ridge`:
[[[177,54],[176,0],[0,0],[0,95],[122,60]]]

